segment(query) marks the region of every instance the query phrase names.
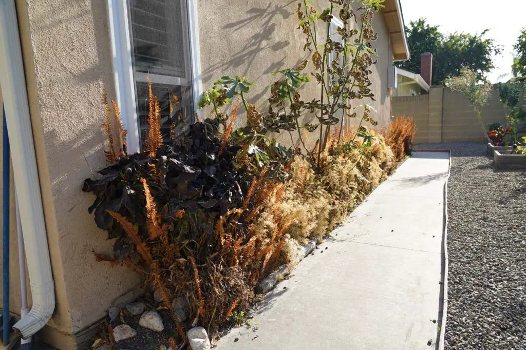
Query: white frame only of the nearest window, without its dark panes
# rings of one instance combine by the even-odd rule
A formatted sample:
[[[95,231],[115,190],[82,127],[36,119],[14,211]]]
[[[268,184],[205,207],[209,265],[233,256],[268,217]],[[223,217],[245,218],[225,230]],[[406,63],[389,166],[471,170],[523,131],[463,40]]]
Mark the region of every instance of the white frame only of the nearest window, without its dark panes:
[[[128,1],[127,0],[107,0],[108,9],[108,26],[110,47],[112,50],[113,80],[115,84],[115,99],[120,108],[120,112],[128,129],[126,142],[128,144],[128,153],[140,151],[139,123],[137,120],[137,101],[135,96],[135,79],[132,64],[131,40],[128,20]],[[194,110],[200,115],[197,104],[203,84],[201,81],[201,56],[199,47],[199,25],[197,17],[197,2],[195,0],[186,0],[186,9],[188,13],[188,32],[190,38],[190,77],[192,84]],[[139,73],[140,75],[140,73]],[[154,83],[157,80],[166,79],[164,76],[153,74],[148,75]],[[143,76],[136,77],[138,81],[143,80]],[[180,79],[181,78],[174,78]],[[155,80],[155,81],[154,81]],[[184,83],[179,81],[179,83]],[[188,85],[176,84],[176,85]],[[170,79],[170,84],[174,84]]]

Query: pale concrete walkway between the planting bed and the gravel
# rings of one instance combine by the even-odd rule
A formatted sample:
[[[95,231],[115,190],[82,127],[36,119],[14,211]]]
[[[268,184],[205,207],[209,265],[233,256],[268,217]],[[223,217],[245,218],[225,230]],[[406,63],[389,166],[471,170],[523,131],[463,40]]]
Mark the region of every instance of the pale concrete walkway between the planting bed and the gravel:
[[[448,168],[413,153],[219,349],[434,349]]]

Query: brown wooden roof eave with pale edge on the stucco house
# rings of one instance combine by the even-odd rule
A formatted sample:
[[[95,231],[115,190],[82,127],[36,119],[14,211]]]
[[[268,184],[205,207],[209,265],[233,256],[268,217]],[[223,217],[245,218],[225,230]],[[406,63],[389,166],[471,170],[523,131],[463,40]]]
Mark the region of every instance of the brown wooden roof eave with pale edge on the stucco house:
[[[411,58],[407,44],[406,25],[403,22],[402,5],[400,0],[386,0],[386,7],[382,10],[383,18],[389,30],[394,61],[405,61]]]

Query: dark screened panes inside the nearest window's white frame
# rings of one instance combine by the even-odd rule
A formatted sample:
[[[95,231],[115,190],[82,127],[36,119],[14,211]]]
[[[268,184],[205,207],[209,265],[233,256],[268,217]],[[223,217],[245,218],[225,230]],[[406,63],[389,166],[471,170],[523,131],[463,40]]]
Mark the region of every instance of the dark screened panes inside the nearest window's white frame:
[[[159,99],[165,140],[172,121],[176,133],[194,120],[186,0],[129,0],[135,90],[141,147],[148,132],[148,79]],[[180,104],[173,105],[170,97]]]

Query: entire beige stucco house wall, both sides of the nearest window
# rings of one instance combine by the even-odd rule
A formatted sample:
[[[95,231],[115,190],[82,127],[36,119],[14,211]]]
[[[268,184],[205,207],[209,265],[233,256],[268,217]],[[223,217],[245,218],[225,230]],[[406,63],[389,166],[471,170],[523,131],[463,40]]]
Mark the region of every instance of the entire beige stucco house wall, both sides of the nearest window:
[[[111,252],[113,241],[106,240],[87,212],[93,195],[81,191],[84,179],[105,166],[103,88],[108,98],[115,96],[106,0],[16,3],[56,293],[55,313],[44,334],[51,345],[72,348],[66,343],[71,340],[68,335],[79,334],[104,317],[116,297],[140,283],[128,269],[95,260],[93,251]],[[199,0],[204,88],[222,75],[245,75],[258,84],[248,96],[250,102],[266,111],[269,86],[278,78],[271,76],[272,71],[295,66],[307,55],[302,49],[304,36],[296,29],[296,7],[290,0]],[[379,57],[371,75],[376,101],[370,103],[382,127],[391,114],[387,79],[392,49],[381,14],[374,25]],[[302,92],[305,100],[318,93],[316,83],[309,85]],[[288,135],[280,140],[290,142]],[[11,225],[10,307],[18,313],[14,216]]]

